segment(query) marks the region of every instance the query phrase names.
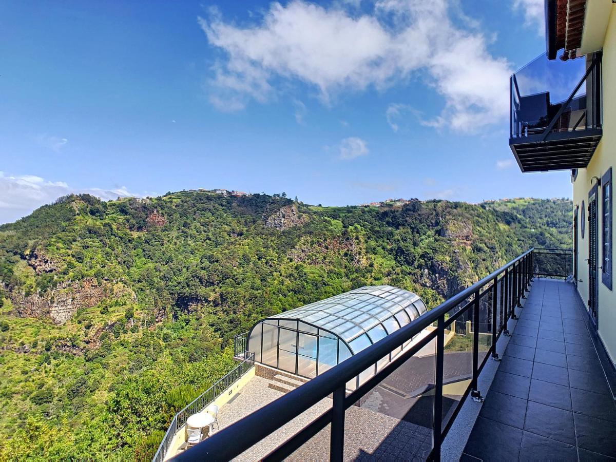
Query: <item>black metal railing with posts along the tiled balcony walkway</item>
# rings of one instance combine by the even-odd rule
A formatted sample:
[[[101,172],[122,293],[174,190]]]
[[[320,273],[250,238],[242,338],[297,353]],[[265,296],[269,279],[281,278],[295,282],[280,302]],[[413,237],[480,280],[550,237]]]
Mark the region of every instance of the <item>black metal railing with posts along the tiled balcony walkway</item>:
[[[429,458],[439,460],[441,443],[455,420],[464,399],[470,393],[473,399],[482,400],[477,387],[477,378],[488,357],[491,356],[498,360],[495,349],[496,341],[501,333],[509,335],[507,329],[509,318],[517,319],[516,307],[521,306],[520,301],[525,298],[525,290],[533,278],[534,258],[533,249],[521,254],[492,274],[482,278],[479,282],[394,333],[318,375],[301,387],[288,392],[274,402],[216,432],[204,442],[177,455],[175,460],[209,460],[211,458],[231,460],[313,407],[320,400],[331,395],[333,401],[329,410],[312,419],[310,424],[275,448],[274,451],[265,456],[264,460],[286,458],[331,423],[330,460],[341,461],[344,454],[345,411],[360,402],[362,397],[378,386],[407,360],[415,356],[420,349],[433,341],[436,348],[434,350],[435,373],[432,375],[432,379],[434,379],[432,386],[432,389],[434,389],[433,414],[432,422],[429,425],[432,426],[433,430]],[[478,328],[473,328],[472,335],[466,337],[469,340],[472,339],[472,361],[468,358],[469,368],[472,362],[472,373],[469,370],[469,384],[464,389],[460,401],[447,409],[444,408],[443,386],[444,383],[448,383],[450,378],[444,377],[445,330],[450,331],[452,323],[463,315],[467,318],[471,317],[474,322],[478,321],[476,324]],[[482,334],[483,338],[487,336],[490,339],[490,347],[482,348],[480,355],[479,336],[482,315],[490,320],[490,333]],[[436,323],[436,329],[426,329],[433,323]],[[429,333],[416,341],[415,344],[411,344],[406,351],[397,355],[391,363],[381,368],[375,375],[363,381],[363,384],[357,387],[355,391],[347,394],[346,384],[349,380],[355,379],[365,370],[373,368],[376,363],[379,363],[379,360],[391,352],[400,351],[403,344],[408,344],[414,336],[421,332]],[[469,351],[468,354],[470,355],[471,352]],[[231,442],[232,444],[230,444]],[[321,456],[326,457],[326,448],[323,448]]]

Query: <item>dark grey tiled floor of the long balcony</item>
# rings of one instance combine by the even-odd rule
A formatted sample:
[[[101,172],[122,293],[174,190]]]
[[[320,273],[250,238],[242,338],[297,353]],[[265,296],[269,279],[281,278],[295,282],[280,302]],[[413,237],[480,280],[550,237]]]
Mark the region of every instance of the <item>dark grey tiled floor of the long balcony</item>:
[[[616,405],[570,283],[533,283],[471,431],[466,460],[616,457]]]

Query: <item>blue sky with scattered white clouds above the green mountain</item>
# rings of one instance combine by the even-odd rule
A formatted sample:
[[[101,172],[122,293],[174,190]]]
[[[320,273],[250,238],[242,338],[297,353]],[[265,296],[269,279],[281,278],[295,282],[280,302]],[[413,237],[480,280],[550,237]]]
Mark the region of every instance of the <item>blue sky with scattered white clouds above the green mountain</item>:
[[[543,0],[3,2],[0,223],[70,192],[570,197],[508,145],[544,52]]]

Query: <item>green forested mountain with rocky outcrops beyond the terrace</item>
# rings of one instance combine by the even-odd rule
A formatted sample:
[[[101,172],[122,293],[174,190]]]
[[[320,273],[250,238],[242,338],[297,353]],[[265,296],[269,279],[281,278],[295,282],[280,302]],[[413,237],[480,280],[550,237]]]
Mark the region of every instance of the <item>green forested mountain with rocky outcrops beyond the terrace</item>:
[[[60,198],[0,226],[0,459],[148,460],[259,318],[384,283],[434,307],[530,246],[570,247],[571,210]]]

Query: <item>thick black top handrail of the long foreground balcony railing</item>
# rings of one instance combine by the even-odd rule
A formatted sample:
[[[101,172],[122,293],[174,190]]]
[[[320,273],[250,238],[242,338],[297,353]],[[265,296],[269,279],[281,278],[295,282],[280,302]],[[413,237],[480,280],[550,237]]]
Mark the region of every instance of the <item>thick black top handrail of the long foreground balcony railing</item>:
[[[334,433],[336,433],[337,439],[339,439],[338,437],[340,436],[339,421],[340,419],[344,419],[345,402],[344,396],[342,396],[342,403],[340,403],[340,396],[341,391],[342,394],[344,394],[347,381],[355,378],[368,367],[371,367],[380,359],[386,355],[389,355],[391,351],[394,351],[394,349],[402,346],[404,342],[413,338],[413,336],[423,331],[424,328],[429,325],[432,325],[435,321],[439,320],[439,328],[442,328],[445,314],[458,306],[461,302],[469,299],[471,296],[479,294],[485,285],[497,280],[503,272],[507,274],[508,270],[512,269],[511,272],[508,272],[509,275],[516,271],[518,272],[518,275],[521,275],[522,269],[521,264],[519,263],[524,260],[523,263],[527,264],[528,259],[526,257],[530,256],[530,259],[532,259],[532,252],[533,248],[503,265],[490,275],[482,278],[447,301],[442,302],[436,308],[419,316],[394,333],[389,334],[375,344],[353,355],[351,358],[339,363],[330,370],[325,371],[325,373],[318,375],[314,379],[311,379],[301,387],[288,392],[274,402],[271,402],[265,407],[254,411],[248,416],[245,416],[239,421],[231,424],[229,427],[216,432],[216,434],[200,444],[177,455],[174,460],[206,460],[209,458],[215,458],[216,460],[231,460],[331,394],[334,394],[334,407],[328,411],[328,416],[330,417],[327,419],[325,418],[325,415],[323,415],[318,420],[323,422],[323,419],[325,419],[326,423],[331,421],[331,450],[332,452],[338,452],[339,446],[334,446],[333,440]],[[530,279],[529,272],[525,272],[525,276],[527,279]],[[512,283],[516,290],[521,294],[520,287],[517,286],[517,283],[514,280],[512,280]],[[478,309],[477,302],[474,303],[474,306]],[[476,329],[476,333],[479,333],[478,329]],[[400,355],[400,357],[390,363],[386,369],[389,371],[395,370],[396,367],[402,364],[403,360],[408,359],[408,353],[409,352]],[[378,375],[380,376],[380,374],[381,373]],[[365,392],[367,391],[368,390]],[[334,425],[334,423],[336,423],[336,425]],[[233,442],[233,444],[229,444],[229,442]],[[337,444],[339,444],[339,442]],[[335,458],[335,456],[332,456],[332,458]]]

